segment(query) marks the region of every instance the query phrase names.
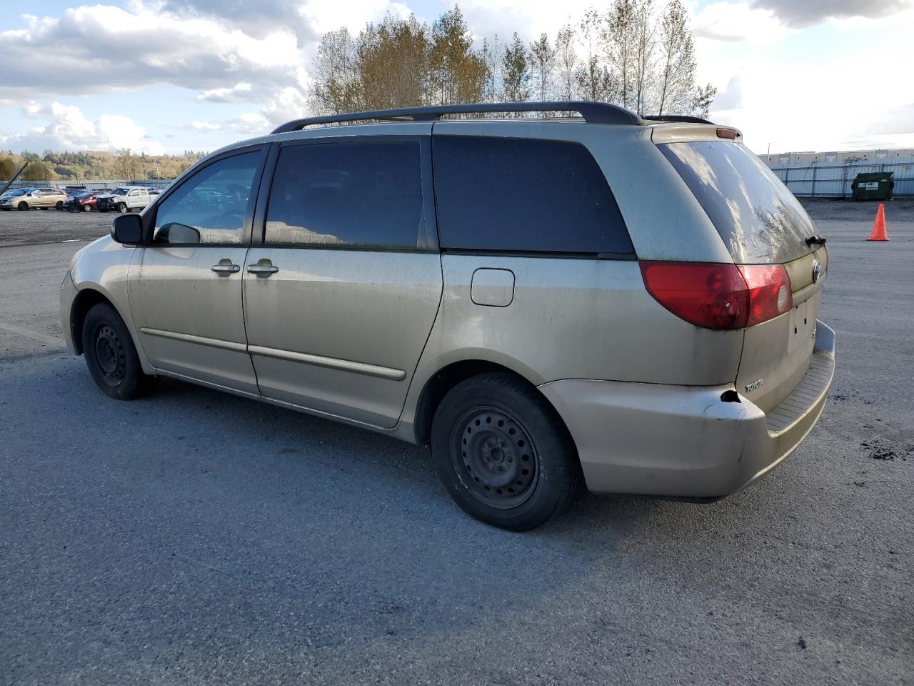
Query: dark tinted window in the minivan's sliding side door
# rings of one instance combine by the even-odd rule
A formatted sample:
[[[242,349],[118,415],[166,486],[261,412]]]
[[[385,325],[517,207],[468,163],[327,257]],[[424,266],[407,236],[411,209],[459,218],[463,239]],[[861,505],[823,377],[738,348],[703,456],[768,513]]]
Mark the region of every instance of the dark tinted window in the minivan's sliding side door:
[[[413,248],[422,222],[419,141],[282,148],[267,207],[273,244]]]

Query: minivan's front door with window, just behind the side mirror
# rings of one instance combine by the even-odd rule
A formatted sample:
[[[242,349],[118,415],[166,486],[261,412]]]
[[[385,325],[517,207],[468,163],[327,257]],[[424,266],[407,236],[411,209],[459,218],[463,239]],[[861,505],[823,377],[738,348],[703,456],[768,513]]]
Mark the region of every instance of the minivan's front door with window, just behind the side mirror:
[[[153,240],[130,299],[143,351],[156,369],[258,393],[246,349],[241,268],[263,158],[262,147],[220,157],[155,209]]]

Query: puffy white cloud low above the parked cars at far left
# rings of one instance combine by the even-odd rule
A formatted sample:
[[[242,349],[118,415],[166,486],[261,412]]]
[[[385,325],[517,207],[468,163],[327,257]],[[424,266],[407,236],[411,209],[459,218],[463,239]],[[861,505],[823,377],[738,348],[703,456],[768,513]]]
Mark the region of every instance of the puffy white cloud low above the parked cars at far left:
[[[0,147],[17,150],[108,150],[129,147],[148,155],[161,155],[161,144],[146,136],[143,126],[120,114],[102,114],[92,122],[76,105],[52,102],[34,116],[49,120],[26,134],[0,134]]]

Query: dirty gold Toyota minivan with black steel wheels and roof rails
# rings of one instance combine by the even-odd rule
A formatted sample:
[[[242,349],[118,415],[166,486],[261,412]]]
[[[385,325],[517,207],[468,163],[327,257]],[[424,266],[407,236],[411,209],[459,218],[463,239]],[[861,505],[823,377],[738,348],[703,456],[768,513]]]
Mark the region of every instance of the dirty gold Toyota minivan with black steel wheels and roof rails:
[[[515,116],[552,111],[579,116]],[[789,456],[834,375],[824,242],[728,126],[424,107],[208,155],[74,256],[60,307],[112,398],[171,377],[430,445],[520,531],[581,480],[706,500]]]

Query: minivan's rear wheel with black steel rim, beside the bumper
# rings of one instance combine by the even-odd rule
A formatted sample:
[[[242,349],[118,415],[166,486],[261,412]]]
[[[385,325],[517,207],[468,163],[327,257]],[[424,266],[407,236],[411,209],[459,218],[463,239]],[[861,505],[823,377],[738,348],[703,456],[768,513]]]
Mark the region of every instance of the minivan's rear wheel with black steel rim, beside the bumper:
[[[526,381],[486,373],[444,396],[431,423],[431,455],[464,512],[509,531],[558,515],[580,484],[580,463],[558,414]]]

